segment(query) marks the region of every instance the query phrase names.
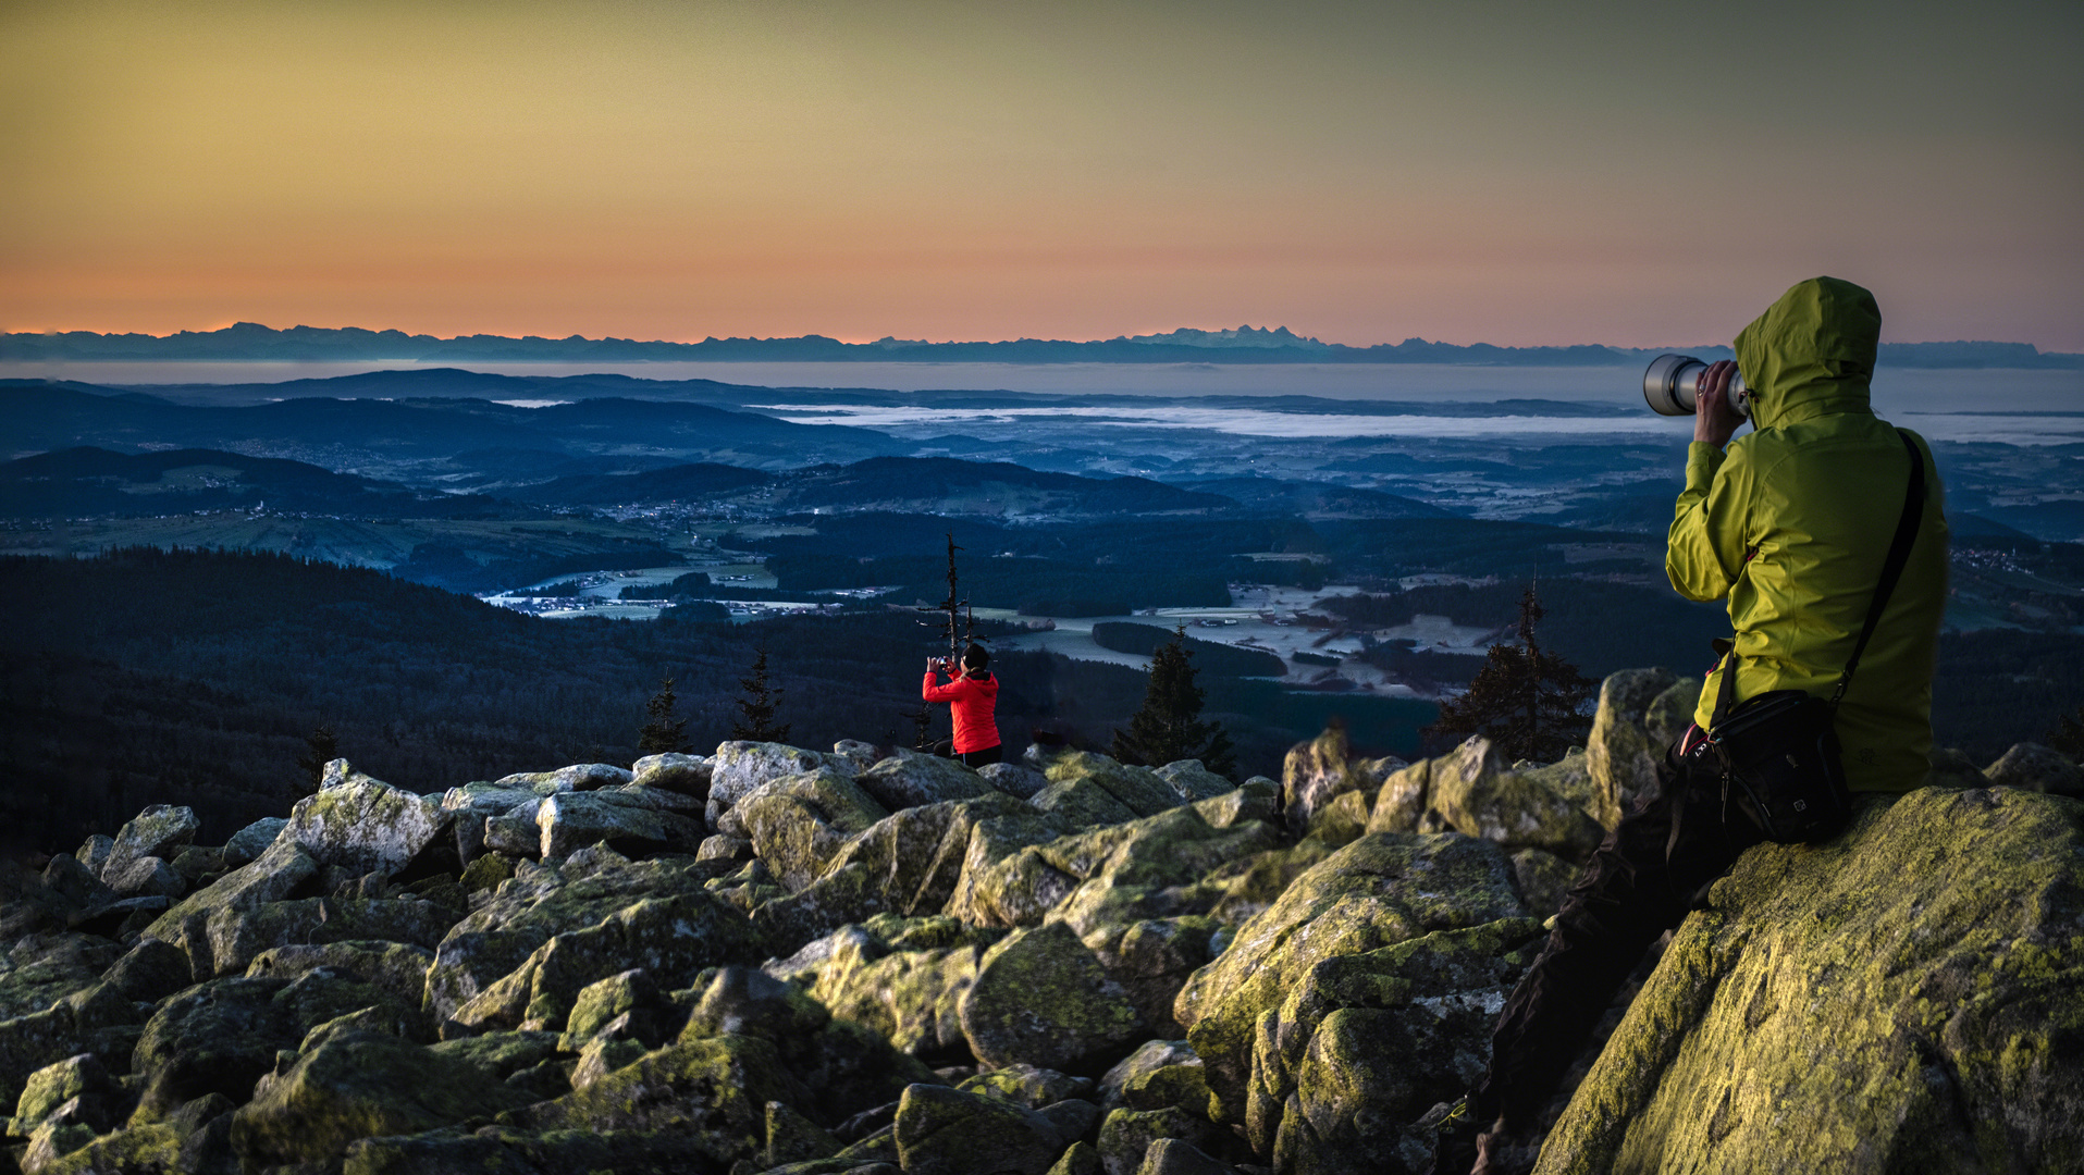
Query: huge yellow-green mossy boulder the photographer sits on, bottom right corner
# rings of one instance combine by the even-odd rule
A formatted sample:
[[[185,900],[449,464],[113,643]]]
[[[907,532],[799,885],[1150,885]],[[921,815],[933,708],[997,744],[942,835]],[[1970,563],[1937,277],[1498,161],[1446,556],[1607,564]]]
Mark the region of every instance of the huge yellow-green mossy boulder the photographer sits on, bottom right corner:
[[[1709,890],[1544,1175],[2084,1169],[2084,804],[1869,800]],[[1798,1112],[1790,1112],[1798,1108]]]

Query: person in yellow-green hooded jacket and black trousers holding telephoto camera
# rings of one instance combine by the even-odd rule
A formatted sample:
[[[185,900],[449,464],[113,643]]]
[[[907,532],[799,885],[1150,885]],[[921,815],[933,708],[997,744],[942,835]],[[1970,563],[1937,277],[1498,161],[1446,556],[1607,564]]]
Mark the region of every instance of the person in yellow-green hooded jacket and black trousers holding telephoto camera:
[[[1736,635],[1701,690],[1694,725],[1586,865],[1548,942],[1498,1015],[1490,1073],[1440,1133],[1438,1175],[1490,1171],[1492,1152],[1532,1125],[1615,990],[1694,898],[1763,840],[1721,802],[1707,742],[1721,677],[1736,696],[1807,690],[1828,698],[1882,573],[1911,477],[1899,429],[1874,415],[1882,335],[1874,294],[1836,277],[1796,283],[1736,335],[1736,362],[1701,379],[1694,440],[1665,546],[1688,600],[1730,600]],[[1744,373],[1753,433],[1726,390]],[[1930,448],[1909,562],[1836,712],[1846,783],[1907,792],[1932,750],[1932,662],[1946,602],[1946,517]]]

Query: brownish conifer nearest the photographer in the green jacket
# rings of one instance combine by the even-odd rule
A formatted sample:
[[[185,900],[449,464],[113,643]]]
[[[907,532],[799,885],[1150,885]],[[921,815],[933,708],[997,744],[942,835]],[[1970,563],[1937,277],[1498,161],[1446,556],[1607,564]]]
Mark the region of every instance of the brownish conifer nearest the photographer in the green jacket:
[[[1598,700],[1598,681],[1534,640],[1542,602],[1530,583],[1519,598],[1519,644],[1494,644],[1461,698],[1440,702],[1428,738],[1461,740],[1480,733],[1507,758],[1555,762],[1592,731],[1586,708]]]

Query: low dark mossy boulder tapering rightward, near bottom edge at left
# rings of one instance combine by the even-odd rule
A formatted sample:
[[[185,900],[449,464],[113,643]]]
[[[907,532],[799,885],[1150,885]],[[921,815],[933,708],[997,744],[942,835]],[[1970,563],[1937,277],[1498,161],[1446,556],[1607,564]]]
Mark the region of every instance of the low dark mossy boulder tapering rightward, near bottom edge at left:
[[[358,1138],[421,1133],[527,1102],[454,1056],[342,1031],[260,1083],[231,1119],[231,1146],[248,1169],[327,1160]]]

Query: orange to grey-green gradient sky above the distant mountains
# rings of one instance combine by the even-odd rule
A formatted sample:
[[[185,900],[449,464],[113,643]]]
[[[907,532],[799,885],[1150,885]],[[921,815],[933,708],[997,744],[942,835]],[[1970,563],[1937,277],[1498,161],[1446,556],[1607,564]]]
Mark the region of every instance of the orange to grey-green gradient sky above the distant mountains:
[[[2084,4],[0,0],[0,329],[2084,350]]]

